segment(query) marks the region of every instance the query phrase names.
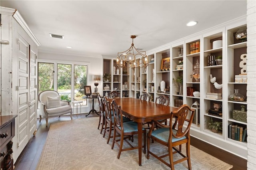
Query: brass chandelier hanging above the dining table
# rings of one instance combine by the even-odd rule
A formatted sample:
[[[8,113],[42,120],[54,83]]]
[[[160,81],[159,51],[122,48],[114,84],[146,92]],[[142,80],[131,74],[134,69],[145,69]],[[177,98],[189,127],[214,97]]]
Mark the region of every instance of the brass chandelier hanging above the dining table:
[[[136,36],[131,36],[131,38],[132,46],[124,52],[117,53],[117,66],[121,68],[147,67],[148,56],[146,55],[146,51],[140,51],[136,47],[134,47],[133,39],[136,38]]]

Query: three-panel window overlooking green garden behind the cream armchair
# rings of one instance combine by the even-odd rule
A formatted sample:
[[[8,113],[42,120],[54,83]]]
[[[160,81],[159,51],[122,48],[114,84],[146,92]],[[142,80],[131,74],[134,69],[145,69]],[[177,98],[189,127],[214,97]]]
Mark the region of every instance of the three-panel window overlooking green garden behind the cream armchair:
[[[74,80],[74,81],[73,81]],[[87,65],[38,62],[38,94],[55,90],[62,100],[83,101],[84,85],[87,85]]]

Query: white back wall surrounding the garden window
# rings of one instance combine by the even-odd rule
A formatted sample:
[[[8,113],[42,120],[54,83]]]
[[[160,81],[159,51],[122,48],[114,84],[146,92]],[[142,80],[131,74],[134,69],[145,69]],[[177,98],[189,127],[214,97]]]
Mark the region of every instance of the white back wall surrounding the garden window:
[[[87,67],[87,85],[91,85],[92,91],[94,89],[94,81],[92,81],[92,75],[101,75],[102,79],[102,73],[103,73],[103,59],[102,55],[97,56],[76,56],[76,55],[69,55],[69,54],[57,54],[57,53],[48,53],[48,52],[40,52],[38,51],[38,62],[46,62],[46,61],[52,61],[52,62],[62,62],[62,63],[75,63],[75,64],[86,64]],[[102,89],[102,82],[99,82],[98,85],[98,92],[100,95],[103,95],[103,89]],[[95,109],[98,110],[98,100],[95,102]],[[88,113],[90,109],[92,108],[92,100],[88,100],[89,105],[88,107],[82,107],[81,112],[82,113]],[[39,115],[39,113],[38,113]]]

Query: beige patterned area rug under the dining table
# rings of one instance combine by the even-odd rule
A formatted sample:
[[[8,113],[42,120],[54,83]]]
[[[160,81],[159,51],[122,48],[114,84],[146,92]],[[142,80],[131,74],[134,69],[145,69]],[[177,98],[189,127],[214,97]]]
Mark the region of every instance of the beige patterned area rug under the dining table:
[[[138,150],[121,153],[118,147],[111,150],[112,139],[107,144],[107,135],[103,138],[98,127],[98,117],[87,117],[71,121],[52,123],[44,149],[37,165],[37,170],[167,170],[168,166],[142,152],[142,166],[138,165]],[[134,136],[134,144],[137,138]],[[125,142],[124,142],[125,143]],[[153,150],[164,152],[165,148],[157,142]],[[182,150],[185,151],[185,146]],[[229,170],[232,165],[191,146],[191,164],[194,170]],[[175,154],[177,155],[177,154]],[[175,156],[174,156],[175,157]],[[174,165],[176,170],[187,170],[187,162]]]

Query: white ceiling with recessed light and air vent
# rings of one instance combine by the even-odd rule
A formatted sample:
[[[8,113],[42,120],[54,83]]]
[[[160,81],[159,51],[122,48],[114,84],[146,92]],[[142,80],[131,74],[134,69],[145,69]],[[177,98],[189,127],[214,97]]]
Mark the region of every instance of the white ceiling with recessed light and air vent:
[[[137,36],[135,47],[148,51],[246,15],[246,0],[1,0],[0,5],[20,12],[41,43],[38,51],[83,56],[116,57],[130,47],[131,35]],[[198,24],[186,26],[191,20]]]

